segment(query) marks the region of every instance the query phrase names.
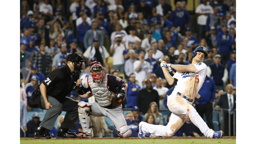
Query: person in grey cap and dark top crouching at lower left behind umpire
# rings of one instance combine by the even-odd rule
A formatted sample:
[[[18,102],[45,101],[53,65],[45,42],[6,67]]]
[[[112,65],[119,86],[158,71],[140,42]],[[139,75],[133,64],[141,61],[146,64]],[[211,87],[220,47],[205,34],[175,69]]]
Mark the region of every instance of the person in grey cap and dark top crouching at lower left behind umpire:
[[[38,112],[35,112],[32,116],[32,120],[28,121],[27,123],[27,132],[26,135],[29,138],[33,138],[36,132],[37,127],[39,127],[40,121],[40,115]]]

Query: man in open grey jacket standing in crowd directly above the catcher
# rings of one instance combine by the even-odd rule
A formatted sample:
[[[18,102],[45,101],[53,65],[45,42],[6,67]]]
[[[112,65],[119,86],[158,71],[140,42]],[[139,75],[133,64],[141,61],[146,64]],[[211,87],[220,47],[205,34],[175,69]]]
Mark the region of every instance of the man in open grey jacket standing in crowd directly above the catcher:
[[[90,46],[92,46],[94,39],[98,39],[100,46],[104,44],[104,37],[100,30],[97,30],[97,23],[92,22],[92,29],[88,30],[84,36],[84,47],[87,50]]]

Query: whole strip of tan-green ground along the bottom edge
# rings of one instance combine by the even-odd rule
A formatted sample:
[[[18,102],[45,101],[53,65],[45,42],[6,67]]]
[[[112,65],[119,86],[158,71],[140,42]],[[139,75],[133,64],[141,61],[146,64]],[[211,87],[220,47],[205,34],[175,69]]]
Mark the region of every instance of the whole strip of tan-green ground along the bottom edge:
[[[173,137],[173,138],[92,138],[92,139],[56,139],[37,140],[21,138],[20,144],[235,144],[236,137],[223,137],[221,139],[207,139],[205,137]]]

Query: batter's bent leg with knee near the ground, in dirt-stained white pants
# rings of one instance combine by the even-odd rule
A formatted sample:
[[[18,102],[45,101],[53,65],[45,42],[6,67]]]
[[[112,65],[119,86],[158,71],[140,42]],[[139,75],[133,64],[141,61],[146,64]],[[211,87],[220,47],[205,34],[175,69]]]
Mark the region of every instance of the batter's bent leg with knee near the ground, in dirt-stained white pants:
[[[139,133],[141,133],[141,130],[142,130],[143,133],[151,133],[153,135],[162,136],[162,137],[172,137],[173,134],[177,132],[180,129],[180,127],[184,124],[186,119],[187,119],[186,115],[178,115],[178,114],[172,113],[170,120],[166,126],[153,125],[146,122],[140,122]]]

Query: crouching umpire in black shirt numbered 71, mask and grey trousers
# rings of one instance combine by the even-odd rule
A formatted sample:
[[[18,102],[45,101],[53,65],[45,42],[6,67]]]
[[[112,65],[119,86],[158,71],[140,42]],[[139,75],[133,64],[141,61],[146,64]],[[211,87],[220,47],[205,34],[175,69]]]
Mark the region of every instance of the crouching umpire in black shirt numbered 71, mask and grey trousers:
[[[64,121],[57,133],[57,138],[77,138],[75,133],[68,132],[69,129],[76,129],[78,122],[78,102],[66,97],[76,86],[83,68],[83,56],[73,53],[67,57],[66,65],[53,70],[39,85],[36,86],[29,104],[32,107],[46,109],[47,112],[43,121],[35,132],[35,139],[49,139],[58,115],[66,111]]]

